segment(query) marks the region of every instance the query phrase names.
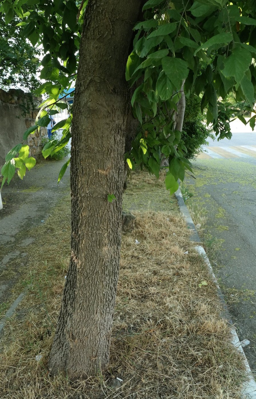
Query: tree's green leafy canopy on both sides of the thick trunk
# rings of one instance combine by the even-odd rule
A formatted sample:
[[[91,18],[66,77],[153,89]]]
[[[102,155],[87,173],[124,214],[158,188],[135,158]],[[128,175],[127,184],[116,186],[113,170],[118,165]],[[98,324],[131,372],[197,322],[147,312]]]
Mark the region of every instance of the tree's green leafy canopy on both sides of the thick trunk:
[[[60,96],[65,98],[66,89],[76,79],[86,4],[74,0],[2,2],[0,12],[6,22],[14,14],[19,16],[24,37],[44,49],[41,78],[46,81],[36,93],[46,93],[48,99],[42,103],[34,130],[48,124],[47,107],[53,112],[56,105],[66,106]],[[193,93],[200,96],[201,112],[206,112],[207,124],[212,124],[218,138],[231,137],[230,115],[224,103],[227,96],[232,94],[236,101],[246,101],[253,109],[256,5],[246,0],[149,0],[142,11],[143,20],[134,27],[133,51],[126,65],[126,80],[133,91],[131,106],[139,128],[124,157],[129,168],[145,166],[157,177],[163,156],[167,158],[166,188],[174,192],[178,178],[183,180],[185,169],[191,170],[182,132],[176,129],[182,93],[187,99]],[[238,117],[243,120],[239,113]],[[58,126],[64,127],[61,140],[44,147],[45,157],[66,145],[71,121],[72,109],[69,120]],[[250,124],[254,123],[252,118]]]

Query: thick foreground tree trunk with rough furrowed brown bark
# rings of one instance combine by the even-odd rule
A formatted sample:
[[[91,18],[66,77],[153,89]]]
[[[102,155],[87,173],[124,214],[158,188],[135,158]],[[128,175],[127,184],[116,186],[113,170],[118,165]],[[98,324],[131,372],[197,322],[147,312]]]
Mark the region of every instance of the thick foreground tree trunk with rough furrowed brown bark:
[[[109,361],[130,108],[125,65],[139,10],[136,0],[89,0],[86,8],[72,122],[71,259],[48,362],[51,374],[71,380]]]

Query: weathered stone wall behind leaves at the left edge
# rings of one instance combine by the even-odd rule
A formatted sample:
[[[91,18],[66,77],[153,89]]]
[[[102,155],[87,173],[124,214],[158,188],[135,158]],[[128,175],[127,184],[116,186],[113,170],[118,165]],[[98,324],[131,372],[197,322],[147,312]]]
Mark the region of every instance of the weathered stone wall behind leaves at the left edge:
[[[33,98],[34,110],[31,111],[31,95],[22,90],[10,89],[8,92],[0,89],[0,168],[5,156],[11,148],[22,142],[22,136],[30,126],[35,124],[40,104],[40,98]],[[46,128],[28,136],[24,144],[30,147],[30,155],[35,158],[42,156],[42,137],[47,136]]]

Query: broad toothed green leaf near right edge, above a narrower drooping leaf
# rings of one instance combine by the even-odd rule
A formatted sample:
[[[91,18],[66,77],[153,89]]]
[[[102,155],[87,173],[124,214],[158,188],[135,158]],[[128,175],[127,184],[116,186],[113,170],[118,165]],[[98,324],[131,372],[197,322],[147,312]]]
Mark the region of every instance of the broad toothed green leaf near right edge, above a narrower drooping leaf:
[[[236,83],[240,84],[244,78],[244,73],[249,69],[252,63],[250,51],[243,48],[235,48],[233,53],[223,60],[224,69],[222,73],[226,77],[234,76]]]

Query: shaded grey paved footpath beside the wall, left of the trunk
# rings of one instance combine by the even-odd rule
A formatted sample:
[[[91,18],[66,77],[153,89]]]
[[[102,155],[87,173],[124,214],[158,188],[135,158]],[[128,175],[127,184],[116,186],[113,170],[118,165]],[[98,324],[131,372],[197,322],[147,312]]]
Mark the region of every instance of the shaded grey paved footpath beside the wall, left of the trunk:
[[[37,164],[26,172],[23,180],[18,175],[1,190],[3,209],[0,210],[0,304],[8,298],[8,292],[18,273],[11,280],[4,275],[4,268],[10,261],[20,265],[26,263],[24,248],[33,238],[26,238],[22,232],[44,223],[51,208],[70,192],[70,172],[67,169],[58,184],[62,161],[48,161]],[[14,265],[15,269],[15,265]]]

